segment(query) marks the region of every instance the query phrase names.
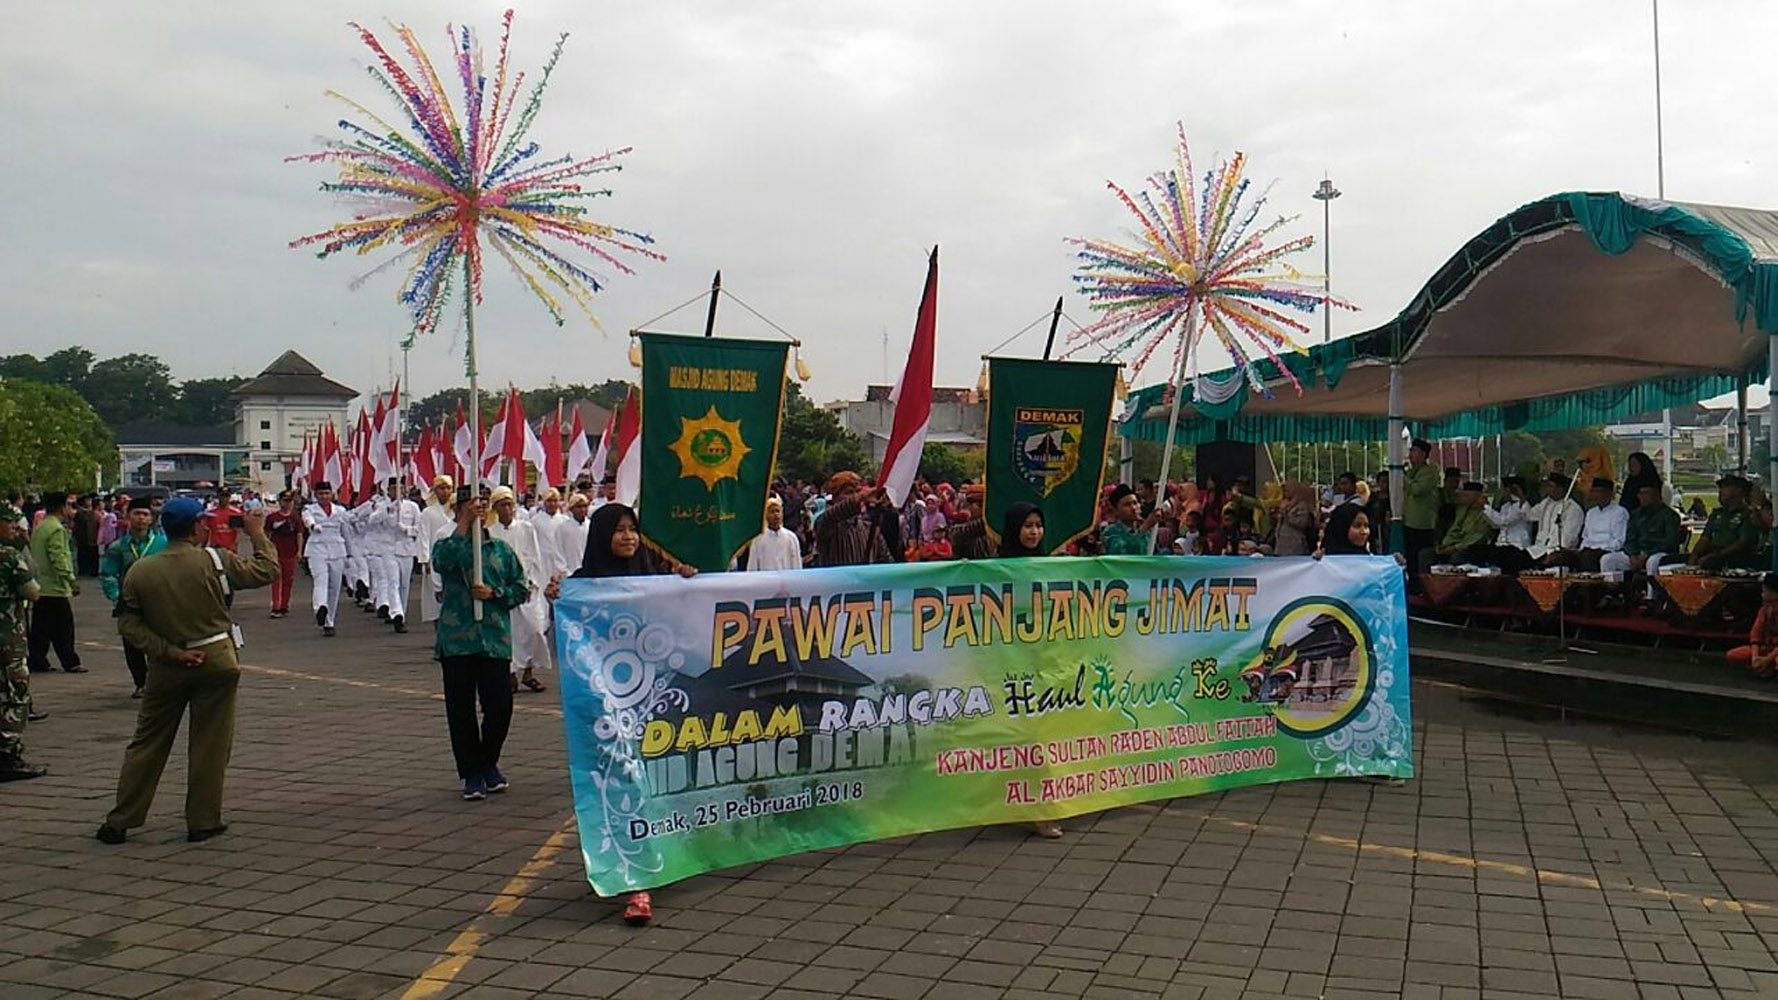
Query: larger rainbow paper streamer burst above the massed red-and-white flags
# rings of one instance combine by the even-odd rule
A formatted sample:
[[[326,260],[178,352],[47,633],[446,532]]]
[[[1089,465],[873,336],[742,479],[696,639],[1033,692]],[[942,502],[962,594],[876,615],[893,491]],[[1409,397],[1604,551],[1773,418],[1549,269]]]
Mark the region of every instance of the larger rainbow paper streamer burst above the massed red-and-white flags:
[[[628,148],[597,157],[542,160],[537,144],[526,141],[567,34],[557,37],[549,60],[519,105],[525,73],[509,77],[507,68],[512,11],[501,20],[493,87],[484,75],[475,32],[446,28],[462,85],[461,101],[453,107],[414,32],[405,25],[389,27],[407,53],[405,64],[375,34],[352,25],[375,55],[368,66],[370,78],[393,98],[400,125],[327,91],[363,116],[366,125],[343,117],[343,139],[325,141],[322,151],[288,157],[286,162],[338,165],[340,180],[322,183],[322,190],[340,196],[354,215],[350,222],[292,240],[290,246],[318,244],[316,256],[322,258],[345,249],[368,254],[402,247],[354,279],[352,288],[391,267],[407,265],[396,295],[412,315],[404,347],[437,327],[457,283],[466,285],[466,313],[482,301],[485,249],[512,267],[557,326],[564,322],[558,295],[597,326],[592,294],[603,286],[603,278],[567,254],[585,251],[624,274],[635,270],[619,254],[665,258],[647,249],[654,242],[651,237],[587,217],[585,203],[612,192],[583,187],[581,181],[622,169],[617,160],[629,153]]]

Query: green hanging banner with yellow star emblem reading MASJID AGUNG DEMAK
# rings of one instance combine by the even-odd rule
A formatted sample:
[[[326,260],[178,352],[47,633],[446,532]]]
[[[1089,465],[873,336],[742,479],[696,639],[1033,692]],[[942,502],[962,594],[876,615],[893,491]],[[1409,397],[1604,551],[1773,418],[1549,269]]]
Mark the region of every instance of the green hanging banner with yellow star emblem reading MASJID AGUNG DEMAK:
[[[765,525],[789,345],[638,336],[642,534],[679,562],[727,569]]]

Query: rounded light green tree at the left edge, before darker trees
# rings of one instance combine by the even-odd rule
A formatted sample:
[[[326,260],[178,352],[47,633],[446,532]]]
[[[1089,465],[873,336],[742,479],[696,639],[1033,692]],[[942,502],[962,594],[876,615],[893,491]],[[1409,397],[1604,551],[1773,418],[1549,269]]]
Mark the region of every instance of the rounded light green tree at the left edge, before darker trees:
[[[68,386],[0,379],[0,489],[87,489],[117,473],[110,429]]]

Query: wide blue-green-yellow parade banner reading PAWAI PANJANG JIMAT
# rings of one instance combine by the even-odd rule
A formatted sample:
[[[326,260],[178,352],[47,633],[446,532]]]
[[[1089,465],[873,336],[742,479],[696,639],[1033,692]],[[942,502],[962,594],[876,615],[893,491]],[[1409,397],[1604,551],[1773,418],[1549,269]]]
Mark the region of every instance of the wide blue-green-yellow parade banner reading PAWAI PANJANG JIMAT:
[[[1414,774],[1390,559],[1005,559],[565,580],[587,877]]]

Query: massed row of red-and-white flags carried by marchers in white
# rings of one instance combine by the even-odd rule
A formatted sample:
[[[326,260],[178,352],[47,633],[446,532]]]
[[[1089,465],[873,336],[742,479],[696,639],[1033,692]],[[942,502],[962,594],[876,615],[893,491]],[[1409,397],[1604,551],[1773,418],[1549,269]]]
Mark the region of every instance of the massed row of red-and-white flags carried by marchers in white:
[[[400,456],[400,383],[388,395],[377,393],[372,411],[359,409],[347,440],[329,420],[315,434],[302,434],[302,454],[292,470],[292,488],[313,493],[316,482],[327,482],[341,500],[352,504],[377,491],[377,484],[398,475],[425,489],[439,475],[457,484],[469,482],[466,470],[480,466],[487,486],[510,484],[517,493],[530,488],[530,468],[539,475],[539,488],[571,486],[581,477],[603,482],[606,468],[617,468],[617,500],[633,504],[642,488],[642,450],[635,448],[642,429],[640,400],[631,388],[624,404],[606,422],[597,445],[587,434],[574,407],[574,420],[562,427],[562,406],[544,415],[533,427],[525,416],[525,402],[517,390],[507,390],[500,409],[482,425],[482,441],[471,445],[469,420],[462,404],[457,416],[444,416],[437,425],[421,425],[418,440],[407,454],[402,470]],[[480,456],[480,461],[475,461]]]

